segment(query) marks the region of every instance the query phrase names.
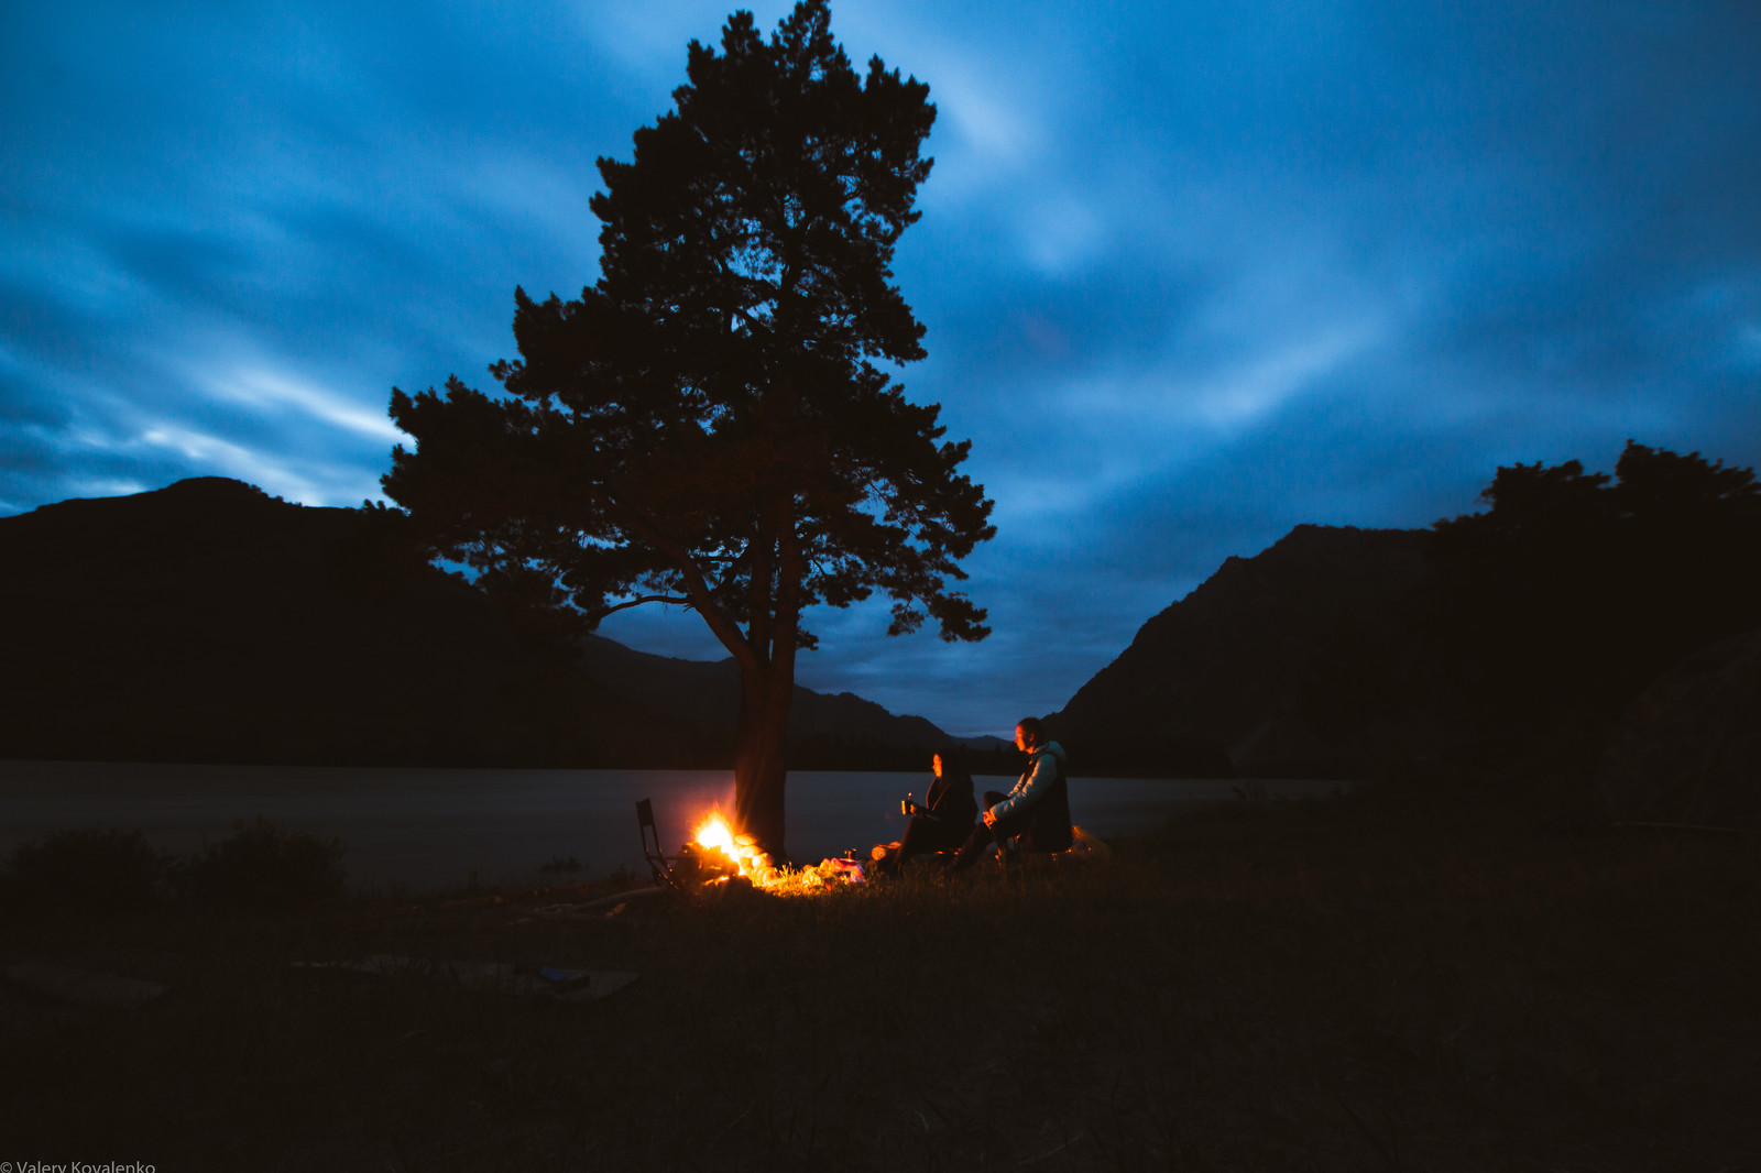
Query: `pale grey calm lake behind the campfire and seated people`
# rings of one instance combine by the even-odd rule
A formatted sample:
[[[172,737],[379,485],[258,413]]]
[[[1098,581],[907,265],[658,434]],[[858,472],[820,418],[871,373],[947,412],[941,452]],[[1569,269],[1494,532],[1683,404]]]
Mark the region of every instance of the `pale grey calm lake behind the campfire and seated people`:
[[[979,794],[1013,778],[976,777]],[[903,831],[898,800],[925,773],[791,771],[789,851],[814,861]],[[1071,817],[1101,838],[1148,831],[1173,814],[1268,796],[1324,796],[1338,782],[1071,778]],[[729,770],[391,770],[357,766],[178,766],[0,761],[0,854],[62,828],[139,828],[162,851],[190,852],[238,819],[336,837],[359,884],[416,888],[530,882],[574,858],[592,875],[646,870],[636,801],[652,798],[671,854],[711,807],[733,807]]]

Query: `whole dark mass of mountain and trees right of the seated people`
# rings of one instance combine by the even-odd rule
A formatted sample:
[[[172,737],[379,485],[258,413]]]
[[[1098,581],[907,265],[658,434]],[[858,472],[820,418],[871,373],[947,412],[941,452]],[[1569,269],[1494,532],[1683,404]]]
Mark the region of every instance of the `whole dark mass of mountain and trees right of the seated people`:
[[[1514,465],[1481,504],[1428,530],[1300,525],[1229,558],[1050,719],[1057,736],[1088,773],[1352,777],[1395,754],[1583,782],[1652,682],[1761,627],[1752,470],[1629,440],[1613,477]],[[1701,727],[1687,717],[1648,720]]]

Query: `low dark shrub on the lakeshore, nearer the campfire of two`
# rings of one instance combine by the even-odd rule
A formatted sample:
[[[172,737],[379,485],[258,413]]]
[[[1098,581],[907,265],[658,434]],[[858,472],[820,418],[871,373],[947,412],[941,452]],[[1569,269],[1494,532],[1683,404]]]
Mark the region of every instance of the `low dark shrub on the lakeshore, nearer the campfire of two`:
[[[234,823],[232,835],[183,863],[181,889],[211,904],[252,912],[289,912],[343,893],[338,838],[289,831],[266,819]]]

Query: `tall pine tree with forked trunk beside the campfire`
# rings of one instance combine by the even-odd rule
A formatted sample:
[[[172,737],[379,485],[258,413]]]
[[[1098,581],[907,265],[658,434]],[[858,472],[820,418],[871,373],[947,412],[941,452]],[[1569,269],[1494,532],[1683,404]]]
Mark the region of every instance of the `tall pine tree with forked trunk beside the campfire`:
[[[770,42],[736,12],[687,74],[632,162],[599,160],[599,282],[514,291],[505,395],[393,389],[416,451],[384,486],[435,555],[565,627],[696,609],[740,664],[736,817],[782,854],[803,609],[880,590],[889,634],[983,639],[949,579],[995,527],[958,472],[970,442],[873,365],[923,358],[891,259],[930,171],[928,86],[879,58],[858,79],[824,0]]]

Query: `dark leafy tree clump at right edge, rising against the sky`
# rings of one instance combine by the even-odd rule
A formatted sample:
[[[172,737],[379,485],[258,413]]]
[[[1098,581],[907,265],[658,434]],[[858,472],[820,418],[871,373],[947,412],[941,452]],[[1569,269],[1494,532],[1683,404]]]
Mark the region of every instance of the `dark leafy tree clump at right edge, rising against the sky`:
[[[1611,717],[1701,646],[1761,622],[1749,468],[1627,440],[1615,477],[1499,468],[1488,509],[1435,525],[1419,618],[1488,724]]]

